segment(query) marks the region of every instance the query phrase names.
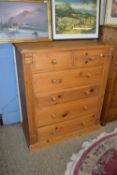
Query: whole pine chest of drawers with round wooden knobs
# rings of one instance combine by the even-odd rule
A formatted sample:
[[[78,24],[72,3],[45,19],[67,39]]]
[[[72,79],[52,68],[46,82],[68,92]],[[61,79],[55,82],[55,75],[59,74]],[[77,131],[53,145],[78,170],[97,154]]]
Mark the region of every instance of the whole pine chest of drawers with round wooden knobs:
[[[99,127],[112,49],[98,41],[16,44],[30,150]]]

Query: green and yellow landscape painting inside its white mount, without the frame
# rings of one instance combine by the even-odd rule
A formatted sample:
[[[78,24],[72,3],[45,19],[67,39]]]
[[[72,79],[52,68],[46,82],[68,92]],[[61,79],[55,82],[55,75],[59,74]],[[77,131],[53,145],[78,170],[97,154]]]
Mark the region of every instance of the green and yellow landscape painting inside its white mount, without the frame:
[[[97,0],[55,0],[56,34],[95,34]]]

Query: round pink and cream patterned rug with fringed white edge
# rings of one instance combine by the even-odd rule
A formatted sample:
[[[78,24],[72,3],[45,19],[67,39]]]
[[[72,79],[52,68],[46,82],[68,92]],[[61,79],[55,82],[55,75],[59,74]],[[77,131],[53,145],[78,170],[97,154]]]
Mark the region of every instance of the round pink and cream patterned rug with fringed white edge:
[[[85,142],[72,155],[65,175],[117,175],[117,129]]]

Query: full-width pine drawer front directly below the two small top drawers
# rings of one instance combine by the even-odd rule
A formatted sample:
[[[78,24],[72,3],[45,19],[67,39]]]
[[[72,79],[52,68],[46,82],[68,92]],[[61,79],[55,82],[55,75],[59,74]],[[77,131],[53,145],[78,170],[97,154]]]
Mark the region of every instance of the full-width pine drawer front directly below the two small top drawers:
[[[34,93],[50,92],[65,88],[89,85],[100,81],[102,66],[33,74]]]

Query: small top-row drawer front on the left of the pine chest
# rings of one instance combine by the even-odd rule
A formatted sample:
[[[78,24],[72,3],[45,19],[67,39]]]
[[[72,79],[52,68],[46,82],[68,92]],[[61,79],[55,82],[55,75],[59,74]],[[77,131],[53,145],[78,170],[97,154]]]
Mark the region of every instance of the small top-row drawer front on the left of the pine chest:
[[[33,70],[53,71],[73,66],[71,52],[39,52],[33,56]]]

